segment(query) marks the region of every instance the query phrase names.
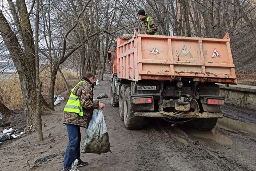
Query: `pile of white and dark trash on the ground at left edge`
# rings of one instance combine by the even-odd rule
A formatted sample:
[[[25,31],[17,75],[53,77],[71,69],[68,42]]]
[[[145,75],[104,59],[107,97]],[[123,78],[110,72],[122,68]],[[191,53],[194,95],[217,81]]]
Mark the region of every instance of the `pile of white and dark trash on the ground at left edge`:
[[[20,138],[22,135],[27,133],[28,131],[14,131],[13,128],[5,128],[2,133],[0,133],[0,145],[3,144],[2,142],[10,139],[17,139]]]

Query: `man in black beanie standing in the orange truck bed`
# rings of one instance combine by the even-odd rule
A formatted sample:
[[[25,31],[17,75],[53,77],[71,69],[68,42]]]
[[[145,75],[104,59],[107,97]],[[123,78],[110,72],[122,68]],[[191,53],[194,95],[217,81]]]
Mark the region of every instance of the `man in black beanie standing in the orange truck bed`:
[[[153,34],[157,35],[157,25],[154,23],[153,18],[146,15],[144,10],[138,11],[138,18],[142,21],[139,34]]]

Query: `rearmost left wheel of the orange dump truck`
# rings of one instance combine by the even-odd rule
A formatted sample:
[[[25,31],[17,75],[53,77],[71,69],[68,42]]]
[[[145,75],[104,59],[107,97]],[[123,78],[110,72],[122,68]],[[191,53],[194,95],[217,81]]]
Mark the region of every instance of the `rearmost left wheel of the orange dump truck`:
[[[143,126],[143,117],[134,116],[133,101],[131,99],[131,87],[128,87],[125,91],[123,120],[125,122],[126,129],[141,129]]]

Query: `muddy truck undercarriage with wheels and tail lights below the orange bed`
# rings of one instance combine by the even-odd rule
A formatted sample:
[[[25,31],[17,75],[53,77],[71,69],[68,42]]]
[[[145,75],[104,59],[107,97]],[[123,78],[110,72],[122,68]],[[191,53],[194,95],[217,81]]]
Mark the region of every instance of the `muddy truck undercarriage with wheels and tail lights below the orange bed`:
[[[142,128],[145,117],[162,117],[170,122],[191,121],[197,129],[211,130],[223,117],[222,104],[224,97],[219,96],[215,83],[112,79],[111,105],[119,107],[127,129]]]

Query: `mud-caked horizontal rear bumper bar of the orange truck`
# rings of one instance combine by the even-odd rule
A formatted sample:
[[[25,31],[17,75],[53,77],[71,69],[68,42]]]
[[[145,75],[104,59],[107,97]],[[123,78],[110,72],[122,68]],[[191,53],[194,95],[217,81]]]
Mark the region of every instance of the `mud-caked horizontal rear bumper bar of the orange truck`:
[[[167,112],[135,112],[134,116],[139,117],[171,117],[171,118],[223,118],[222,113],[210,113],[210,112],[184,112],[182,114],[173,115],[173,113]]]

